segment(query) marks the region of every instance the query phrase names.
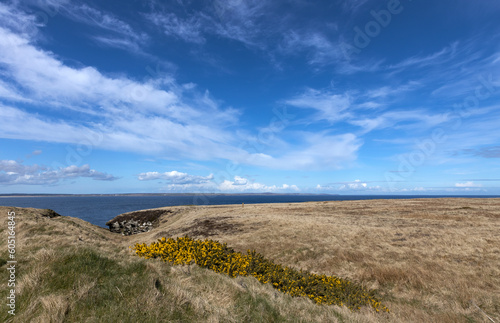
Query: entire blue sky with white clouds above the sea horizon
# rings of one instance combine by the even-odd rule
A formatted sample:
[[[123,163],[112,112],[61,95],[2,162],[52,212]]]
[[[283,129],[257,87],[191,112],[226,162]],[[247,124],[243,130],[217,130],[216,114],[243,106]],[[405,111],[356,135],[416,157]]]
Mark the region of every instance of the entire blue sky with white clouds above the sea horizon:
[[[500,194],[500,2],[0,2],[0,193]]]

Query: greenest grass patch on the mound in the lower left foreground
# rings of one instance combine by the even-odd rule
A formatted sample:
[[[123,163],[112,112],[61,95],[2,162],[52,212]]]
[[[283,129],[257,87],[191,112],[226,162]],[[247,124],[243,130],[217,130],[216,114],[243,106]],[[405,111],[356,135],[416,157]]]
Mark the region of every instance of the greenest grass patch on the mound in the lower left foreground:
[[[34,265],[32,261],[19,263],[18,282],[25,275],[35,276]],[[17,297],[14,322],[33,321],[44,313],[55,315],[54,321],[67,322],[156,322],[159,318],[166,321],[197,318],[189,306],[172,308],[161,306],[159,302],[158,306],[146,304],[149,300],[144,295],[151,293],[151,282],[157,281],[157,287],[162,283],[143,260],[125,263],[88,248],[72,248],[37,266],[43,272],[43,279],[31,288],[24,288]],[[165,275],[168,276],[167,270]],[[162,288],[158,289],[156,301],[164,294]],[[1,296],[7,296],[5,289]],[[44,305],[44,299],[51,298],[55,302],[62,298],[65,302],[53,307]],[[12,317],[2,311],[0,321],[9,318]]]

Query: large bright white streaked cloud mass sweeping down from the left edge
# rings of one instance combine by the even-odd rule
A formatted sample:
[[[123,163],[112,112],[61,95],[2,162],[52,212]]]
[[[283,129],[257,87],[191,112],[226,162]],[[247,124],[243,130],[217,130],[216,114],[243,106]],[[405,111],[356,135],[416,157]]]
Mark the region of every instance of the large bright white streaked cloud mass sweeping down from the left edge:
[[[77,112],[75,120],[63,121],[0,105],[6,125],[0,135],[4,138],[79,143],[85,140],[83,133],[98,132],[105,138],[99,143],[104,148],[141,152],[169,149],[173,155],[184,156],[193,151],[203,156],[210,150],[212,157],[224,157],[233,150],[226,147],[233,136],[224,127],[236,122],[238,111],[220,110],[208,93],[197,94],[196,89],[178,86],[168,77],[139,83],[105,76],[92,67],[71,68],[52,53],[36,49],[28,39],[2,28],[0,63],[3,75],[23,88],[24,97],[34,106],[49,113],[65,109]]]

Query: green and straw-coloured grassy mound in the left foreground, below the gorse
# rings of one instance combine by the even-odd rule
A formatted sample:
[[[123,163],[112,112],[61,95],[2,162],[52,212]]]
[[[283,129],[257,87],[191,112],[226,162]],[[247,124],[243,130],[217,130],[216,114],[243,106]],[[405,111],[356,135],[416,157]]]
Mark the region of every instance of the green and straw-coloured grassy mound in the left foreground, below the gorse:
[[[174,270],[161,261],[120,259],[88,247],[44,253],[46,249],[18,255],[22,261],[17,264],[17,283],[22,290],[16,316],[4,310],[1,322],[303,321],[286,315],[287,308],[297,307],[293,305],[297,299],[278,296],[271,286],[252,277],[241,277],[238,283],[195,265]],[[5,281],[5,264],[0,270]],[[6,296],[3,288],[0,297]],[[219,311],[220,297],[228,300],[225,311]],[[298,303],[311,312],[311,318],[324,314],[310,301]],[[341,317],[336,312],[333,316]]]

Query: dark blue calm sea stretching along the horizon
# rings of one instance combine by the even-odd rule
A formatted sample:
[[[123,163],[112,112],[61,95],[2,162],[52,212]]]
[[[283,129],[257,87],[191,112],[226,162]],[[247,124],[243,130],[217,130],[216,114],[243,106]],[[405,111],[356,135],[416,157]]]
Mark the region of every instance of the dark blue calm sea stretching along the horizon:
[[[106,227],[115,216],[136,210],[175,205],[217,205],[255,203],[293,203],[308,201],[342,201],[369,199],[407,199],[437,197],[498,197],[498,196],[409,196],[409,195],[211,195],[211,196],[43,196],[1,197],[0,206],[52,209],[65,216],[80,218]]]

